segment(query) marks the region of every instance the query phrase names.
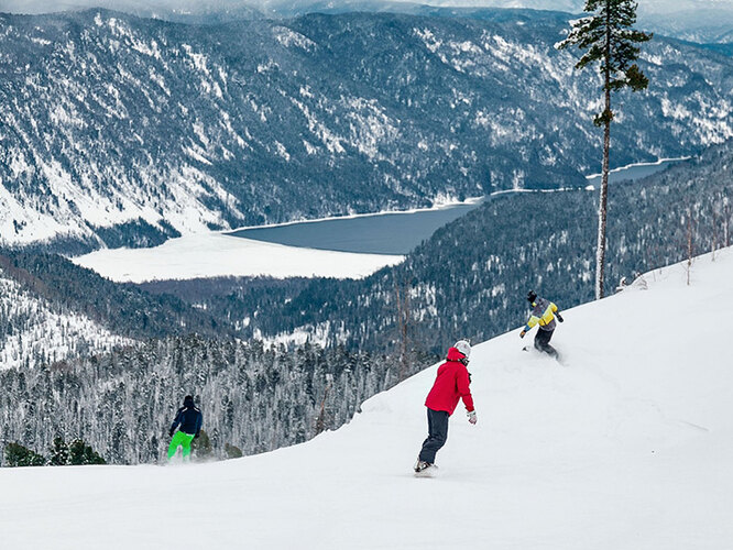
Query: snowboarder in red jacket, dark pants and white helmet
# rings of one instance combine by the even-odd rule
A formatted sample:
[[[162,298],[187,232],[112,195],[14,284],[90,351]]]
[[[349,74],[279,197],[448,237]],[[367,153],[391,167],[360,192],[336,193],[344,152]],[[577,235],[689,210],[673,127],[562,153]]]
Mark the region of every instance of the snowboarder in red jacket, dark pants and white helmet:
[[[425,399],[428,413],[428,437],[415,463],[415,472],[420,473],[431,468],[435,454],[448,439],[448,418],[456,410],[459,399],[463,399],[469,422],[475,424],[473,397],[471,397],[471,377],[468,369],[471,344],[459,340],[448,350],[447,361],[438,367],[438,376],[433,389]]]

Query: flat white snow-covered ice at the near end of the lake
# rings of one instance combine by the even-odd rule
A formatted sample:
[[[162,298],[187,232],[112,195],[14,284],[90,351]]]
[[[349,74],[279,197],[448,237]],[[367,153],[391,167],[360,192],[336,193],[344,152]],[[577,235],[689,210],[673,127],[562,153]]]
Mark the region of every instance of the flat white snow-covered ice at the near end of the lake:
[[[304,249],[215,232],[171,239],[151,249],[102,249],[72,258],[120,283],[258,275],[360,278],[403,260],[400,255]]]

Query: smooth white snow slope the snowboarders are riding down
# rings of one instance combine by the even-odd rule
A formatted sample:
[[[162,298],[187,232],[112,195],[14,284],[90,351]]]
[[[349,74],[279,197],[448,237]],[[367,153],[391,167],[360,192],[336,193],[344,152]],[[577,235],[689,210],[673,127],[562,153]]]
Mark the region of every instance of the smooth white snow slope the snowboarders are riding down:
[[[456,413],[435,479],[411,472],[431,366],[258,457],[2,469],[2,547],[729,549],[733,251],[697,260],[690,286],[681,265],[646,283],[565,311],[562,364],[518,328],[477,345],[479,424]]]

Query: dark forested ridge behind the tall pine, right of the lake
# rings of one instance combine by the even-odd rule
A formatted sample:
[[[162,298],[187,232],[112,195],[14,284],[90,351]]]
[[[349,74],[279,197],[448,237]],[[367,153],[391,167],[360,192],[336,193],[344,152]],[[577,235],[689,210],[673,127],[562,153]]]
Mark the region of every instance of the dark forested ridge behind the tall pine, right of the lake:
[[[612,293],[622,277],[687,257],[688,240],[692,254],[731,243],[733,142],[614,184],[609,195]],[[402,345],[407,327],[409,346],[441,353],[459,337],[485,340],[521,326],[530,288],[560,308],[592,299],[597,204],[597,190],[500,194],[438,230],[403,264],[366,279],[278,284],[272,293],[232,284],[203,302],[214,316],[245,320],[242,334],[310,333],[324,344],[378,351]],[[163,289],[177,292],[158,284]],[[406,309],[409,320],[401,324]]]

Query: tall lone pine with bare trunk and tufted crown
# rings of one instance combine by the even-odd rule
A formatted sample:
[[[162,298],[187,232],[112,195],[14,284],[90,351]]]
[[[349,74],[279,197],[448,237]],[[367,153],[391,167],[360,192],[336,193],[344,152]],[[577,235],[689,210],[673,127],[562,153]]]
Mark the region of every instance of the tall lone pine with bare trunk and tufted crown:
[[[636,22],[636,8],[633,0],[587,0],[584,11],[593,13],[571,23],[568,37],[558,48],[578,46],[587,51],[576,64],[577,69],[600,62],[603,77],[604,109],[593,123],[603,127],[603,168],[601,197],[598,208],[598,245],[595,254],[595,298],[603,298],[603,272],[605,270],[605,221],[609,197],[609,148],[611,144],[611,92],[622,88],[633,91],[646,89],[649,80],[633,63],[638,58],[636,44],[652,38],[632,29]]]

